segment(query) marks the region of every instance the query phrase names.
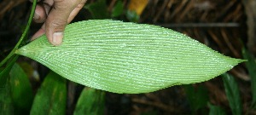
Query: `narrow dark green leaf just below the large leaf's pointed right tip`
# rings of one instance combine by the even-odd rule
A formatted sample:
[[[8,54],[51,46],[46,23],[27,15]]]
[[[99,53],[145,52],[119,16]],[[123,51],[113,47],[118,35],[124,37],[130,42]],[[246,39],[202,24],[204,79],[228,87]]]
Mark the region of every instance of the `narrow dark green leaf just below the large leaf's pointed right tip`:
[[[223,81],[225,93],[230,103],[230,108],[233,115],[241,115],[241,99],[235,78],[228,73],[224,73]]]

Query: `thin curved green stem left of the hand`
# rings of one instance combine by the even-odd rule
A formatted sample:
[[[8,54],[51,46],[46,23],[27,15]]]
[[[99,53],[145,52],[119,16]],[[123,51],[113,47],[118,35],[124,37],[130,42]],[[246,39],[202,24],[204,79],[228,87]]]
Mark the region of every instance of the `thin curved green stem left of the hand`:
[[[19,42],[16,43],[15,48],[12,49],[12,51],[9,53],[9,55],[7,55],[7,56],[1,61],[0,67],[3,66],[3,65],[5,64],[5,62],[6,62],[7,60],[9,60],[13,55],[15,55],[16,49],[18,49],[18,48],[20,47],[20,43],[22,43],[24,37],[26,37],[26,34],[27,34],[27,32],[28,32],[28,30],[29,30],[29,28],[30,28],[31,22],[32,22],[33,15],[34,15],[34,13],[35,13],[36,5],[37,5],[37,0],[34,0],[34,1],[33,1],[33,5],[32,5],[32,10],[31,10],[31,13],[30,13],[30,15],[29,15],[29,20],[28,20],[28,22],[27,22],[27,24],[26,24],[26,29],[25,29],[25,31],[22,33]]]

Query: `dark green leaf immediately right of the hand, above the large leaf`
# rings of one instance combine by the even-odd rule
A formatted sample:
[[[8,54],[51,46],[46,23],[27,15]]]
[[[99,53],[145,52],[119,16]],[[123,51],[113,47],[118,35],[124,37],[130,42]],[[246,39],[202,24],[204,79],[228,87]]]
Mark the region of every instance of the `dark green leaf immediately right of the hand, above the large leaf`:
[[[108,14],[108,7],[106,0],[97,0],[95,3],[90,3],[84,6],[85,9],[90,11],[93,19],[108,19],[110,18]]]

